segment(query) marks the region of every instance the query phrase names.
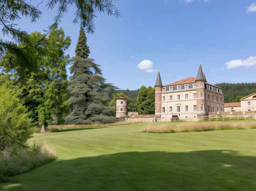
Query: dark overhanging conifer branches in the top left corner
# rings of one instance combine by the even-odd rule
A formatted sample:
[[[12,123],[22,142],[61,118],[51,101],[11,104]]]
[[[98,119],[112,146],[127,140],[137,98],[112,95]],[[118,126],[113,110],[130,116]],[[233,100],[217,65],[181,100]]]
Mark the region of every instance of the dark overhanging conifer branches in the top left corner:
[[[45,55],[44,49],[41,47],[42,42],[48,32],[54,27],[58,27],[64,14],[67,13],[68,7],[75,6],[74,23],[80,23],[88,32],[94,32],[94,18],[97,12],[119,17],[120,13],[115,7],[115,2],[116,0],[42,0],[39,4],[33,5],[34,1],[28,0],[1,0],[0,29],[4,37],[12,37],[13,41],[0,38],[0,58],[8,51],[9,54],[12,54],[10,57],[12,60],[8,64],[15,64],[12,67],[19,66],[23,71],[35,72],[40,66],[35,58]],[[20,29],[15,22],[24,16],[30,19],[31,23],[36,22],[42,13],[38,8],[40,4],[53,11],[57,6],[57,13],[54,23],[49,24],[48,30],[45,30],[46,34],[34,39],[26,31]]]

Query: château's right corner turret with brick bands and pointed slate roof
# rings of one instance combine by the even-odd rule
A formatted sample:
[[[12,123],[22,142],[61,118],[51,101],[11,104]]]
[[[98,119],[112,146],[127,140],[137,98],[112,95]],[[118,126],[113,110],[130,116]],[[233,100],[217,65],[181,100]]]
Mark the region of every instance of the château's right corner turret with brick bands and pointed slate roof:
[[[202,71],[202,66],[199,64],[197,77],[195,80],[196,83],[196,113],[197,119],[202,119],[205,115],[205,83],[206,78]]]

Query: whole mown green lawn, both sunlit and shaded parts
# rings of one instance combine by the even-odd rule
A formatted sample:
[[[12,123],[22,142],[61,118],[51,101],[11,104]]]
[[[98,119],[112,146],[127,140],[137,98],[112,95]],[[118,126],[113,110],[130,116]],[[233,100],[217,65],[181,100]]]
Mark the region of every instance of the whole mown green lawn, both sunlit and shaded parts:
[[[0,190],[256,191],[256,129],[141,133],[149,125],[35,134],[58,160]]]

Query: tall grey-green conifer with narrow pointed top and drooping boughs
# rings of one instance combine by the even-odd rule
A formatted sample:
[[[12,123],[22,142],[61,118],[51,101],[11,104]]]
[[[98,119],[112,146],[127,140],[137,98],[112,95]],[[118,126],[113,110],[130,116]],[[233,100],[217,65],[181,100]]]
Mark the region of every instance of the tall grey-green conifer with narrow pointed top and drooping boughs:
[[[80,29],[75,49],[73,65],[70,68],[73,76],[70,79],[68,92],[71,113],[66,117],[67,123],[89,124],[92,122],[114,122],[115,111],[108,107],[108,92],[116,89],[106,83],[100,65],[88,58],[89,47],[83,28]]]

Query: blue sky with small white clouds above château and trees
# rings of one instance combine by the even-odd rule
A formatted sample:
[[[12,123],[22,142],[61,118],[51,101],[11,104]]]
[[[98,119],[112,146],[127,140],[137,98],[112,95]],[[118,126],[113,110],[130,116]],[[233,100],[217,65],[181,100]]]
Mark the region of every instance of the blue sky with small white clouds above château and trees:
[[[164,84],[196,76],[199,63],[210,83],[256,82],[256,0],[119,0],[116,6],[121,17],[98,14],[87,37],[90,57],[120,89],[154,86],[156,71]],[[37,23],[22,19],[20,27],[46,29],[56,12],[40,9]],[[70,7],[60,25],[71,36],[71,57],[79,34],[73,13]]]

